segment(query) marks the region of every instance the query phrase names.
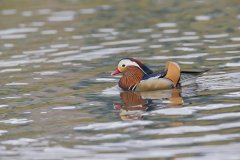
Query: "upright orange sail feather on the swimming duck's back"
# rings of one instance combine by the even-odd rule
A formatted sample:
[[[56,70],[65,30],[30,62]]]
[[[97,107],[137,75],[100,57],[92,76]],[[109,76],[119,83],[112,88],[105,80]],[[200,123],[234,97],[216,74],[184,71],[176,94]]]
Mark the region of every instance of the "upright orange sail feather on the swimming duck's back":
[[[167,62],[165,67],[165,71],[167,72],[164,78],[167,78],[173,82],[174,87],[178,85],[178,82],[181,77],[181,69],[180,66],[175,62]]]

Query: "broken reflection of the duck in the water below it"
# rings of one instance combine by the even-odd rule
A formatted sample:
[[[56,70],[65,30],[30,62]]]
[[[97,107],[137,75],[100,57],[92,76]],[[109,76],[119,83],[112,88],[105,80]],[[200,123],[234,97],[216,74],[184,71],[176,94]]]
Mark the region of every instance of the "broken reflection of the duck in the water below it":
[[[120,93],[122,104],[114,104],[114,109],[120,110],[122,120],[143,119],[146,111],[154,109],[157,104],[154,101],[161,100],[167,103],[167,107],[178,107],[183,104],[180,89],[148,91],[148,92],[130,92]],[[165,106],[163,104],[163,106]]]

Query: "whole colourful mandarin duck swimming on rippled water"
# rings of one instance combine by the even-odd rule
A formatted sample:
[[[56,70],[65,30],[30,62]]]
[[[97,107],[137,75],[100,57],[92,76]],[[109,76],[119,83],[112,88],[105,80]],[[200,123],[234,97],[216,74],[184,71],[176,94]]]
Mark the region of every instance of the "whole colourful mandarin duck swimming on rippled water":
[[[169,61],[164,71],[154,73],[139,60],[124,58],[119,61],[117,68],[111,75],[119,73],[123,74],[118,82],[121,89],[125,91],[154,91],[176,88],[180,86],[180,80],[191,79],[202,72],[181,72],[177,63]]]

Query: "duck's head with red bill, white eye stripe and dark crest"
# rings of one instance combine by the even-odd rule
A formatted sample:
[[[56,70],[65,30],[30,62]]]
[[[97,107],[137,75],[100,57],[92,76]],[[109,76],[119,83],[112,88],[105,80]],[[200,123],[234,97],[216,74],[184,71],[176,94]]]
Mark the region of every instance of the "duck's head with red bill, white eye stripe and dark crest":
[[[139,60],[136,60],[134,58],[124,58],[121,59],[118,62],[117,68],[112,72],[112,76],[119,74],[119,73],[124,73],[128,70],[129,66],[135,66],[138,67],[143,71],[144,74],[151,74],[153,73],[152,70],[150,70],[147,66],[145,66],[142,62]]]

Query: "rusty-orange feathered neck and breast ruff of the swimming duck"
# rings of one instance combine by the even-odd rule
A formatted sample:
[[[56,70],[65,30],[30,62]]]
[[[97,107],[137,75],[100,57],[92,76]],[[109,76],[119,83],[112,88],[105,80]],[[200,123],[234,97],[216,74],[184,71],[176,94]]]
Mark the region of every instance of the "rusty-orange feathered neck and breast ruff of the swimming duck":
[[[123,73],[118,85],[123,90],[134,90],[143,76],[144,73],[141,69],[135,66],[129,66],[127,71]]]

